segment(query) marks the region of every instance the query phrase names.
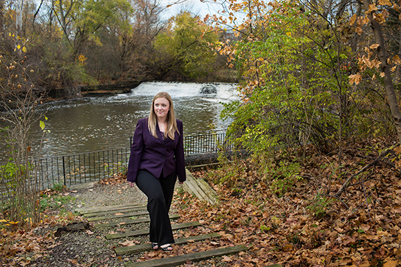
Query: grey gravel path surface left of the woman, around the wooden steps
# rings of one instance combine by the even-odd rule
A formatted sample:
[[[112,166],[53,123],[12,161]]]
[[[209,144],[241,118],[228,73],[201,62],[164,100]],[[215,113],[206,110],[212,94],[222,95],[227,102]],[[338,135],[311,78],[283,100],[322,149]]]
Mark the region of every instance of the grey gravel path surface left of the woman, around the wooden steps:
[[[76,198],[69,207],[71,210],[95,206],[147,203],[147,197],[138,187],[129,187],[127,183],[85,184],[69,189],[71,195]],[[121,246],[120,244],[127,240],[107,240],[104,236],[122,230],[138,230],[147,227],[149,227],[148,224],[135,224],[124,226],[124,229],[115,226],[63,233],[60,237],[55,237],[56,244],[50,253],[37,259],[30,266],[124,266],[124,263],[133,261],[140,255],[116,256],[113,248]],[[148,236],[136,237],[140,243],[149,242],[147,239],[149,239]]]

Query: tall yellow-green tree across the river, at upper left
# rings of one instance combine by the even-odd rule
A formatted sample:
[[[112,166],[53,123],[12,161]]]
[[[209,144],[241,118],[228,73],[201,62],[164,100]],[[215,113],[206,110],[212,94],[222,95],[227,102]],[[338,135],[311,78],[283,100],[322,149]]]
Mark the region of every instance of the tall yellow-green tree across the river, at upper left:
[[[120,14],[130,12],[131,5],[125,0],[82,0],[53,1],[51,6],[42,8],[43,13],[50,8],[45,22],[51,42],[44,43],[47,50],[41,50],[46,69],[53,70],[48,72],[47,78],[53,83],[58,81],[57,86],[65,95],[76,97],[80,94],[77,83],[95,83],[85,68],[86,59],[92,57],[84,55],[87,48],[102,46],[100,36],[104,32],[113,30],[114,25],[127,23],[120,21]],[[97,54],[97,57],[101,56]]]

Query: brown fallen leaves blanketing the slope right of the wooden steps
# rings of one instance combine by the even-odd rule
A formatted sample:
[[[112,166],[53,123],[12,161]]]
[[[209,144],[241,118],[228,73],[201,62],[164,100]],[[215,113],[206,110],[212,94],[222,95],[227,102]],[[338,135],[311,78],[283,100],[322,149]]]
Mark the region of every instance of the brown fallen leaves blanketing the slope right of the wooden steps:
[[[225,175],[219,170],[212,175],[193,170],[194,176],[209,181],[218,192],[220,204],[209,206],[183,193],[177,196],[176,208],[182,221],[202,221],[205,229],[222,235],[202,246],[250,246],[241,255],[223,257],[227,266],[399,266],[401,182],[388,166],[375,166],[371,179],[360,175],[342,201],[332,199],[326,208],[313,206],[319,188],[326,188],[326,196],[337,192],[346,179],[344,174],[352,175],[365,165],[353,157],[358,148],[348,148],[353,149],[356,152],[344,153],[348,169],[335,166],[336,156],[311,157],[302,170],[306,179],[280,198],[259,184],[263,179],[254,176],[254,167],[247,161],[232,166],[233,173],[241,173],[224,182],[218,181]],[[369,157],[375,159],[376,155]],[[328,160],[333,164],[326,164]],[[317,208],[321,210],[317,212]]]

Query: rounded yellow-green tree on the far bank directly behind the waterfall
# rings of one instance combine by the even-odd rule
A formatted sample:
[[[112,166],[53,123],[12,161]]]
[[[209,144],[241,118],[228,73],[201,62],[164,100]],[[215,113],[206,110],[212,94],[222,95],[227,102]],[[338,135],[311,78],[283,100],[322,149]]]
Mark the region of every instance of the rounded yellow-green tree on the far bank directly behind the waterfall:
[[[159,79],[196,79],[212,71],[216,57],[212,45],[217,34],[199,17],[181,12],[172,18],[153,43],[160,65]]]

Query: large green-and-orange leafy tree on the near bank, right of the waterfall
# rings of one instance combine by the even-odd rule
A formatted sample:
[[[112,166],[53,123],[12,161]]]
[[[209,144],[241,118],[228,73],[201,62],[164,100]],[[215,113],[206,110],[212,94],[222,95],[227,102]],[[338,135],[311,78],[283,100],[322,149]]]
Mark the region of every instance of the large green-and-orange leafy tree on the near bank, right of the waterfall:
[[[350,11],[360,6],[349,5],[230,1],[226,17],[209,17],[232,27],[239,38],[218,48],[239,70],[241,81],[241,101],[223,112],[234,120],[229,134],[252,153],[265,177],[277,179],[278,191],[298,177],[291,152],[301,148],[306,159],[312,144],[321,152],[335,152],[341,166],[343,146],[372,135],[382,122],[377,115],[385,103],[380,104],[377,92],[349,83],[356,53],[366,41],[348,22]],[[241,23],[235,12],[245,14]],[[286,156],[278,160],[277,150]]]

